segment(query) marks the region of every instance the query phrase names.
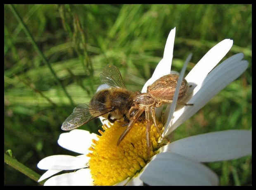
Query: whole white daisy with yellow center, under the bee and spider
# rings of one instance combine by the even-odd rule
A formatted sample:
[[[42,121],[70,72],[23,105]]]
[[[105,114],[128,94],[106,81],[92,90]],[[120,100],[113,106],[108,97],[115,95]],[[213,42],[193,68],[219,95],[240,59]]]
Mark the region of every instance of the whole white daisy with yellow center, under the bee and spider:
[[[175,28],[168,36],[163,59],[145,83],[142,93],[161,76],[170,74],[174,39]],[[151,127],[152,158],[147,155],[144,121],[135,123],[119,146],[116,146],[125,127],[104,120],[104,132],[99,130],[101,136],[79,129],[60,134],[58,144],[81,155],[52,155],[44,158],[38,163],[38,168],[47,171],[39,181],[51,177],[44,185],[218,185],[218,176],[201,162],[231,160],[251,154],[250,130],[210,132],[162,143],[161,146],[159,139],[170,139],[173,130],[247,69],[248,62],[242,60],[242,53],[216,67],[232,44],[230,39],[218,43],[187,74],[185,79],[191,87],[183,102],[193,106],[176,108],[177,92],[191,56],[186,60],[173,103],[166,107],[162,116],[164,126],[160,130],[164,138],[159,136],[156,127]],[[99,89],[102,88],[106,86],[100,86]],[[162,109],[158,108],[157,115],[161,114]],[[55,175],[63,170],[75,171]]]

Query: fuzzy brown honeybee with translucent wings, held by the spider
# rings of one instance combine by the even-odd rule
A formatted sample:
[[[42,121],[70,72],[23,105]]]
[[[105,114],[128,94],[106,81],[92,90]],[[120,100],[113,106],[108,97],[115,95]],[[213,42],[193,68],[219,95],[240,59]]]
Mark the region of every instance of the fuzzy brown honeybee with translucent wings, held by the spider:
[[[100,74],[100,80],[111,88],[97,92],[89,103],[78,105],[62,124],[62,130],[72,130],[100,116],[109,120],[128,123],[129,110],[137,92],[126,89],[122,76],[114,65],[107,65]],[[142,116],[143,117],[143,116]],[[142,120],[142,119],[141,119]]]

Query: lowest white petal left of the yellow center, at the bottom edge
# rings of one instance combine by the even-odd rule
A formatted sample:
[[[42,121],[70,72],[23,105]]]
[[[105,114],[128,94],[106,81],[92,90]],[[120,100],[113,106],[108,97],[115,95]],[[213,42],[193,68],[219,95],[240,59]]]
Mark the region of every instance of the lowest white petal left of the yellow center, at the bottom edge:
[[[90,169],[79,169],[78,171],[53,176],[45,181],[45,186],[73,186],[73,185],[93,185]]]

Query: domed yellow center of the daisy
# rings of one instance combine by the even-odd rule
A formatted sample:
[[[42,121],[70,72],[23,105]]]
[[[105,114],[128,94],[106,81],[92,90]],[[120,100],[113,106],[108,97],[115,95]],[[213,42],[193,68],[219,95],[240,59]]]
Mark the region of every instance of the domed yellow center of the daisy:
[[[161,127],[162,128],[162,127]],[[119,137],[126,129],[120,123],[115,122],[111,127],[103,126],[104,132],[99,140],[94,143],[87,156],[90,157],[89,167],[94,179],[94,185],[114,185],[133,177],[149,160],[147,156],[146,122],[136,122],[130,132],[116,145]],[[161,132],[162,129],[160,130]],[[150,130],[150,155],[158,149],[160,135],[154,125]]]

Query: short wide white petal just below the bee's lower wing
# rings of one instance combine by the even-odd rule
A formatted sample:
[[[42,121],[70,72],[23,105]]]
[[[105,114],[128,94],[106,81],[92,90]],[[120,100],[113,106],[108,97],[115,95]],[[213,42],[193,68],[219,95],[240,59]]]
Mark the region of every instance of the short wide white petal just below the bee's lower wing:
[[[90,133],[86,130],[71,130],[70,132],[59,135],[58,144],[70,151],[88,154],[88,148],[92,144],[92,139],[97,140],[97,134]]]

